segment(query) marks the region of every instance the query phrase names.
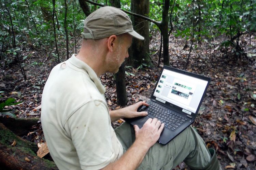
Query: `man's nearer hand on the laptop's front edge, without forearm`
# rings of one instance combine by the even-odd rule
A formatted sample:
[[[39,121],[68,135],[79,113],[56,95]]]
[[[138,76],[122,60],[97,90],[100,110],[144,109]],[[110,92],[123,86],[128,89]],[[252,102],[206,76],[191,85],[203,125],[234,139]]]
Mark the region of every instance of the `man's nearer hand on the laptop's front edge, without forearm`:
[[[135,142],[145,145],[149,149],[159,139],[164,126],[165,124],[161,123],[161,121],[156,118],[147,119],[141,129],[139,129],[137,125],[134,125]]]

